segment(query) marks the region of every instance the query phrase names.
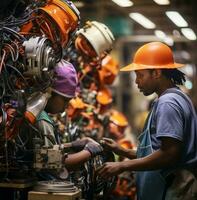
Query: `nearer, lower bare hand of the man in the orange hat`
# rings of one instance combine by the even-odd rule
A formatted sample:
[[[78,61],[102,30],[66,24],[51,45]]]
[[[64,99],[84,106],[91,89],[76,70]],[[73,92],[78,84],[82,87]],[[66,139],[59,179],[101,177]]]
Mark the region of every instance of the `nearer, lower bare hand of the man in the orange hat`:
[[[103,179],[109,179],[110,177],[118,175],[123,171],[122,162],[106,162],[96,170],[96,173]]]

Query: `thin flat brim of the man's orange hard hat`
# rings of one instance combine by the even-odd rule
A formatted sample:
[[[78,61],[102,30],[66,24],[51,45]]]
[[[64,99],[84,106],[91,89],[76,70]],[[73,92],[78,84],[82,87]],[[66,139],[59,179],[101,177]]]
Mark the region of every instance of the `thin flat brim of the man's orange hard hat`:
[[[136,71],[136,70],[143,70],[143,69],[176,69],[179,67],[183,67],[185,64],[181,63],[172,63],[167,65],[143,65],[137,63],[131,63],[125,67],[120,69],[121,72],[128,72],[128,71]]]

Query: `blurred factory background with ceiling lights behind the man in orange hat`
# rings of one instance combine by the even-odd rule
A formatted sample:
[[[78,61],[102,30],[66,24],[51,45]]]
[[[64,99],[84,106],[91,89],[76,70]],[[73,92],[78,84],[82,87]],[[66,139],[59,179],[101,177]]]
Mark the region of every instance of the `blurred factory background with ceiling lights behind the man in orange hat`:
[[[73,1],[81,12],[82,23],[98,20],[115,35],[112,56],[120,67],[131,62],[135,50],[143,43],[162,41],[169,45],[175,61],[185,64],[188,77],[185,90],[197,107],[197,1],[195,0],[81,0]],[[136,115],[148,108],[152,97],[140,95],[133,74],[119,73],[112,86],[114,105],[135,124]]]

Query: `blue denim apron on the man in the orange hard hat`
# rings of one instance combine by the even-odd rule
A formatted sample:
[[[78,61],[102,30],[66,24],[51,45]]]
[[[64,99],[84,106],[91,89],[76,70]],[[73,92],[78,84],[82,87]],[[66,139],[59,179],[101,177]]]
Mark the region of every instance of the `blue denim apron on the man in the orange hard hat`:
[[[154,109],[153,109],[154,110]],[[153,111],[151,111],[144,132],[139,136],[137,158],[143,158],[153,153],[150,138],[150,124]],[[136,185],[138,200],[162,200],[165,193],[166,182],[159,170],[136,172]]]

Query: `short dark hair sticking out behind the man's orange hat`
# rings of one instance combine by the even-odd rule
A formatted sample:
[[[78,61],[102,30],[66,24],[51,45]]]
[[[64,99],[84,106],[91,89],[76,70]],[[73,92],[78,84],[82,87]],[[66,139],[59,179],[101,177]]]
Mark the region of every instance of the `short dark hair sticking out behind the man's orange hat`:
[[[178,69],[162,69],[162,74],[175,85],[183,85],[186,81],[185,74]]]

